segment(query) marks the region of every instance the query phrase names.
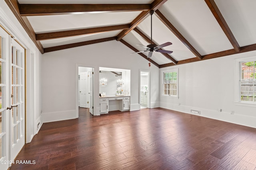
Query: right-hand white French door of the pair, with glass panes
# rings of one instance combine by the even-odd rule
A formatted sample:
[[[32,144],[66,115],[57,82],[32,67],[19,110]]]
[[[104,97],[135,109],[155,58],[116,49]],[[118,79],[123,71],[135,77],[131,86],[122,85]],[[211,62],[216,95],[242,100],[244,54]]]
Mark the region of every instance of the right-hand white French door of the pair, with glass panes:
[[[9,74],[9,144],[10,160],[18,155],[25,144],[25,87],[24,87],[24,54],[25,50],[14,39],[11,43],[10,73]]]

